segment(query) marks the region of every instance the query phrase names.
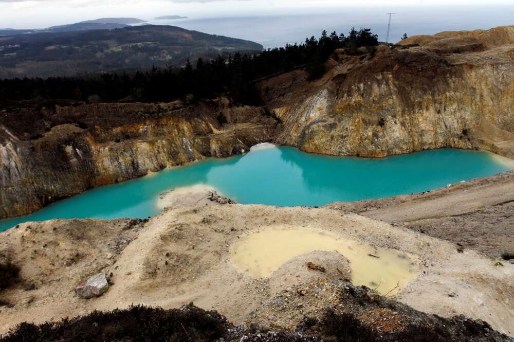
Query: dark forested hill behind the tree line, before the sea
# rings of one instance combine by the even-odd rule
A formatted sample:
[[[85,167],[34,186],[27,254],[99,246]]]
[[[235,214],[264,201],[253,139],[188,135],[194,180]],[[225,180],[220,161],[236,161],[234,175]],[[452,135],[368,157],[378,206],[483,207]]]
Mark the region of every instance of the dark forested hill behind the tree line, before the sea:
[[[0,37],[0,79],[182,66],[188,58],[262,49],[250,41],[160,25],[12,35]]]

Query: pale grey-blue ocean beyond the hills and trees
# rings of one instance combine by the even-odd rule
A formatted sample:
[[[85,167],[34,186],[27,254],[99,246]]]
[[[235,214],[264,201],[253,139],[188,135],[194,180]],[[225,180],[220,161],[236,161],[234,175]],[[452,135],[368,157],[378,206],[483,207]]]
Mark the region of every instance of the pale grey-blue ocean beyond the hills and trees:
[[[265,48],[301,43],[305,38],[328,33],[348,32],[352,27],[371,28],[380,41],[386,40],[388,16],[393,11],[391,42],[407,35],[434,34],[448,30],[488,29],[514,25],[514,6],[480,7],[360,7],[338,8],[312,14],[213,17],[180,20],[154,20],[151,24],[173,25],[262,44]]]

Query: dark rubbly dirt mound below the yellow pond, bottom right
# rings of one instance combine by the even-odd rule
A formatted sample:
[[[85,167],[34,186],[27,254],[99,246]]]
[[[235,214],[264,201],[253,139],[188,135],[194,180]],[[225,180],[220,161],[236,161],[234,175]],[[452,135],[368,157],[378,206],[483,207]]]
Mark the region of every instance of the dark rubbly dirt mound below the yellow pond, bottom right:
[[[513,341],[485,321],[426,314],[344,281],[295,286],[263,303],[251,318],[254,326],[296,329],[327,341]]]

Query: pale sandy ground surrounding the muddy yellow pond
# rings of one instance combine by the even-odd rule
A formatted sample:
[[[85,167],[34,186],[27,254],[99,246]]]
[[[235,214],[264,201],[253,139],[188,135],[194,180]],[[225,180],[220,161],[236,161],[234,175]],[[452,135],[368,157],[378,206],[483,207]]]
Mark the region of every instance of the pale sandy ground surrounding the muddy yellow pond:
[[[231,262],[231,246],[244,233],[277,225],[327,231],[413,255],[420,260],[419,272],[395,298],[425,312],[484,319],[494,329],[514,335],[514,265],[497,267],[494,260],[472,250],[458,253],[447,241],[357,214],[262,205],[165,210],[132,230],[123,230],[120,220],[53,220],[3,232],[0,250],[10,251],[22,265],[22,276],[39,288],[5,294],[16,305],[2,309],[0,332],[22,321],[41,322],[133,303],[177,308],[193,301],[243,323],[276,295],[276,289],[268,279],[239,271]],[[127,235],[134,240],[121,253],[109,249],[116,237]],[[79,260],[65,264],[65,256],[75,253]],[[77,298],[75,285],[97,272],[113,273],[114,285],[99,298]],[[281,282],[287,284],[287,279]]]

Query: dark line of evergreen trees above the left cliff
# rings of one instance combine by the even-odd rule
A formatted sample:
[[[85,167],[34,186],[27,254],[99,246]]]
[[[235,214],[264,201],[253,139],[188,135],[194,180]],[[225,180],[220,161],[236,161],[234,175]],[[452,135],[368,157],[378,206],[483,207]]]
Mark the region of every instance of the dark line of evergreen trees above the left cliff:
[[[228,58],[218,56],[209,61],[199,58],[195,65],[188,60],[186,66],[180,68],[4,79],[0,80],[0,99],[168,102],[189,94],[195,99],[204,99],[228,93],[235,102],[258,104],[253,81],[297,67],[305,67],[310,78],[315,79],[323,75],[324,62],[335,49],[344,47],[348,53],[357,53],[359,47],[377,44],[377,35],[370,29],[352,28],[348,35],[323,31],[319,39],[313,36],[302,44],[287,44],[254,55],[236,52]]]

